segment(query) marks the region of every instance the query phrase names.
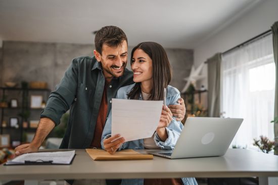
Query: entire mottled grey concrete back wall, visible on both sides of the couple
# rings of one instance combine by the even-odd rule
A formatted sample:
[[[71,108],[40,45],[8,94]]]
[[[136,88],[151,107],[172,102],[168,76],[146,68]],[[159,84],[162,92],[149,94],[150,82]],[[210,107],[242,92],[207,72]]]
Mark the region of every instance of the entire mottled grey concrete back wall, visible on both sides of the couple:
[[[3,86],[8,81],[46,81],[53,90],[72,58],[92,56],[94,49],[93,44],[4,41],[2,52],[0,49],[0,58],[3,53],[0,83]],[[129,53],[131,49],[128,48]],[[189,75],[193,65],[193,50],[166,49],[166,52],[173,70],[171,85],[181,90],[185,84],[183,78]],[[130,69],[129,61],[127,68]]]

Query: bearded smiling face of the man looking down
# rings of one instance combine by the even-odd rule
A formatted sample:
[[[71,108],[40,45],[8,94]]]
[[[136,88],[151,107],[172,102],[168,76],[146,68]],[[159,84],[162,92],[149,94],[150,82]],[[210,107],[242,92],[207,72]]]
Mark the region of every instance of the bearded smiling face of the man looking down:
[[[96,50],[94,50],[94,54],[102,64],[106,79],[118,78],[123,75],[127,62],[127,42],[125,40],[115,47],[103,44],[102,54]]]

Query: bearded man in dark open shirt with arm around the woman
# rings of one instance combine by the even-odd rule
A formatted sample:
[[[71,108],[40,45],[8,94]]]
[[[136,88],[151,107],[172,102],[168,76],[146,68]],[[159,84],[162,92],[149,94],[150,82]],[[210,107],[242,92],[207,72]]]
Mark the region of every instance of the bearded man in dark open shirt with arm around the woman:
[[[16,148],[16,155],[37,152],[43,140],[60,123],[61,116],[70,109],[68,127],[60,148],[101,148],[101,136],[117,90],[134,83],[133,74],[125,70],[127,64],[127,38],[118,27],[101,28],[95,37],[94,57],[72,60],[56,90],[50,94],[47,106],[33,141]],[[186,109],[171,105],[173,115],[182,120]]]

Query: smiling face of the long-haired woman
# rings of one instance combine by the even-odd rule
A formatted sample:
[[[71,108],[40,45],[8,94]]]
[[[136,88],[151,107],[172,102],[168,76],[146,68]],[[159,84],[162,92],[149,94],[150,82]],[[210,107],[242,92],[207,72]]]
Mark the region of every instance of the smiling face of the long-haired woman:
[[[131,69],[133,71],[133,81],[141,82],[142,85],[152,85],[153,60],[142,49],[136,49],[132,56]]]

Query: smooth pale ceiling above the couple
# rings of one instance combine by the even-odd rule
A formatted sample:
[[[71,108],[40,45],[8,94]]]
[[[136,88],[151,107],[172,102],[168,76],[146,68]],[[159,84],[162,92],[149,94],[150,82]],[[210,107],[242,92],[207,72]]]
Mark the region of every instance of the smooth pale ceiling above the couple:
[[[0,40],[91,44],[92,31],[115,25],[131,46],[194,48],[260,1],[0,0]]]

